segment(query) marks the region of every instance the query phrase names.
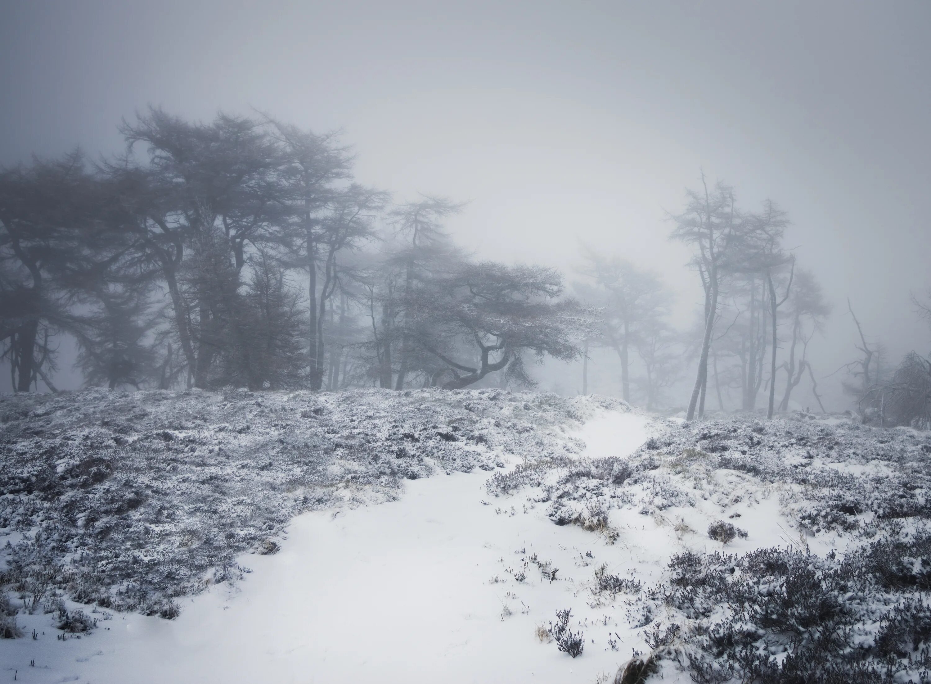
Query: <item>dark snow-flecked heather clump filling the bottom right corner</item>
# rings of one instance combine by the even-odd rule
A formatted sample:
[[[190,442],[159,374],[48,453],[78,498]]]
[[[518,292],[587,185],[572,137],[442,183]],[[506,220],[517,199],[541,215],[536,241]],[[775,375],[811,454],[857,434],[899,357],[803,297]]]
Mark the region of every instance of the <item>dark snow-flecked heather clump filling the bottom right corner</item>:
[[[651,647],[697,682],[928,681],[929,550],[925,537],[843,559],[777,548],[676,555],[648,593],[668,615]],[[664,629],[675,636],[656,638]]]

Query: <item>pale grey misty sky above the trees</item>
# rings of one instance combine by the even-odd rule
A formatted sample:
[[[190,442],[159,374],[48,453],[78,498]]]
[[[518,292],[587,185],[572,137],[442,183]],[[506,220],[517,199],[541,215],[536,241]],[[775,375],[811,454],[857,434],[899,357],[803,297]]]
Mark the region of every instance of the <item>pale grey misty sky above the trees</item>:
[[[206,3],[0,0],[0,164],[120,149],[152,103],[344,129],[358,179],[471,200],[479,256],[571,269],[584,240],[699,302],[665,212],[704,169],[793,221],[849,361],[849,295],[894,358],[931,347],[931,3]],[[833,364],[833,367],[830,367]]]

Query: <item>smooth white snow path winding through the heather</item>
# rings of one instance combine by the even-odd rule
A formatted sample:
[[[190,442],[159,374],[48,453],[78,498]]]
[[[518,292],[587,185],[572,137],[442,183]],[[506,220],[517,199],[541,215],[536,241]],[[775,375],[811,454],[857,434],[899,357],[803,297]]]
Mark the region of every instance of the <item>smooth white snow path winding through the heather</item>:
[[[605,413],[576,436],[585,440],[587,456],[625,456],[649,437],[649,422]],[[668,557],[668,541],[658,540],[656,549],[649,537],[607,546],[579,527],[553,525],[545,506],[534,508],[527,498],[490,498],[483,488],[489,476],[437,475],[408,483],[392,503],[335,517],[301,515],[278,554],[246,556],[240,562],[253,572],[245,581],[182,601],[176,621],[116,615],[91,636],[59,642],[49,616],[20,615],[24,631],[44,634],[0,644],[0,675],[17,669],[22,682],[121,684],[568,684],[613,675],[631,647],[643,649],[623,615],[583,625],[594,643],[575,660],[541,644],[534,627],[568,606],[573,621],[595,620],[596,613],[600,619],[610,609],[587,610],[578,585],[601,562],[609,568],[643,562],[634,558],[647,551],[643,543],[651,546],[650,563],[658,564]],[[533,566],[526,582],[506,572],[534,552],[560,568],[558,581],[543,580]],[[512,615],[503,617],[505,607]],[[623,639],[618,651],[605,648],[612,632]]]

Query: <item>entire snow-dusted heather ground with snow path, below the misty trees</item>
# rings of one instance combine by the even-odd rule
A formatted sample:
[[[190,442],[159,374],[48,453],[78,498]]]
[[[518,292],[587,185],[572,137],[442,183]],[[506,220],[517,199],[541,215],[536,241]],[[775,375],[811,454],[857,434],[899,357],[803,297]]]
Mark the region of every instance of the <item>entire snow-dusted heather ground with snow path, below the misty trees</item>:
[[[0,416],[0,579],[21,635],[0,640],[0,677],[927,666],[924,433],[493,390],[87,391],[7,397]]]

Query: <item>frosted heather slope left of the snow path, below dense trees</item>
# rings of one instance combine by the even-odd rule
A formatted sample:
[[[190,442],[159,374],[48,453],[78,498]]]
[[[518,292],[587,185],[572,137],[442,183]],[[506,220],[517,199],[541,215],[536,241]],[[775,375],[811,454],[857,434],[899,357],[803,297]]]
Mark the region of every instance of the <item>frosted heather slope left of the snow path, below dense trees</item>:
[[[578,450],[560,428],[589,404],[502,390],[3,395],[0,593],[173,618],[178,596],[243,577],[239,554],[275,553],[297,513],[396,499],[405,479],[508,455],[560,461]],[[16,631],[15,615],[0,621]]]

